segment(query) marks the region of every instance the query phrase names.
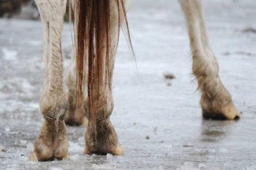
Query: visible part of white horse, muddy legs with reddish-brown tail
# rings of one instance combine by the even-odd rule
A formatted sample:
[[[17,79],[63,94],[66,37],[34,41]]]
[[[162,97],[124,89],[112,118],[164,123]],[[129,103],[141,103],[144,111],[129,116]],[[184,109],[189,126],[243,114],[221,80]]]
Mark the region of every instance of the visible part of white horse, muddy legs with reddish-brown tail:
[[[40,111],[44,122],[34,144],[32,160],[49,161],[69,157],[66,124],[87,124],[86,154],[122,155],[110,122],[113,112],[112,79],[119,32],[124,30],[133,54],[126,11],[130,0],[74,0],[73,51],[63,84],[61,34],[67,1],[36,0],[44,34],[44,88]],[[193,75],[201,91],[203,118],[233,120],[239,112],[218,75],[218,62],[210,47],[200,0],[179,0],[187,22]]]

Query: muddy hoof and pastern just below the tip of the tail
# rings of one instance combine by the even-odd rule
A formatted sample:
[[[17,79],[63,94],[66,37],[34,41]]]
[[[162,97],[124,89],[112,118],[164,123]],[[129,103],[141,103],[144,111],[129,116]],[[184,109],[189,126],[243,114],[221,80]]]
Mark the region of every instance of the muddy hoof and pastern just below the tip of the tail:
[[[92,126],[90,126],[92,127]],[[86,147],[84,154],[92,155],[123,155],[123,149],[119,144],[117,133],[109,120],[97,125],[97,134],[88,128],[86,132]]]

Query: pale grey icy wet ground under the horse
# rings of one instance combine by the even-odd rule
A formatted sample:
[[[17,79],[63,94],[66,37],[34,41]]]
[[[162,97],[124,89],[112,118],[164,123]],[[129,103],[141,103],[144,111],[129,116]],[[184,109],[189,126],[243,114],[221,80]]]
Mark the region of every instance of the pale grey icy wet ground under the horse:
[[[121,38],[111,117],[121,157],[83,155],[84,127],[68,127],[69,161],[30,162],[42,124],[40,22],[0,19],[0,169],[256,169],[254,0],[207,0],[205,19],[220,77],[243,112],[239,121],[201,119],[187,30],[177,1],[138,0],[129,11],[133,59]],[[69,63],[69,25],[63,32]],[[176,79],[166,81],[163,73]]]

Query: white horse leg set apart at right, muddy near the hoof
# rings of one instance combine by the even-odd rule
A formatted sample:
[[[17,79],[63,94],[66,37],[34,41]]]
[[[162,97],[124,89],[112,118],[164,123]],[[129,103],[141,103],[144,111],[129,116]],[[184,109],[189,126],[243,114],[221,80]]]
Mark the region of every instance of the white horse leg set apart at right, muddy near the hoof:
[[[232,97],[218,75],[218,62],[210,47],[203,19],[200,0],[179,0],[189,32],[193,54],[193,74],[201,91],[200,105],[203,118],[238,118]]]

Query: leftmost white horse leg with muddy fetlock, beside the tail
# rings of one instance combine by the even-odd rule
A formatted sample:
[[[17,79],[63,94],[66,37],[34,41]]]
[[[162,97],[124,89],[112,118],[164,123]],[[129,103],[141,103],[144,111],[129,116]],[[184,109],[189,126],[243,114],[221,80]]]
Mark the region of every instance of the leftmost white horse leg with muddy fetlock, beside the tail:
[[[69,102],[63,87],[61,54],[66,3],[65,0],[36,0],[43,24],[45,58],[44,87],[40,97],[40,111],[44,122],[34,143],[33,155],[38,161],[69,157],[64,122]]]

